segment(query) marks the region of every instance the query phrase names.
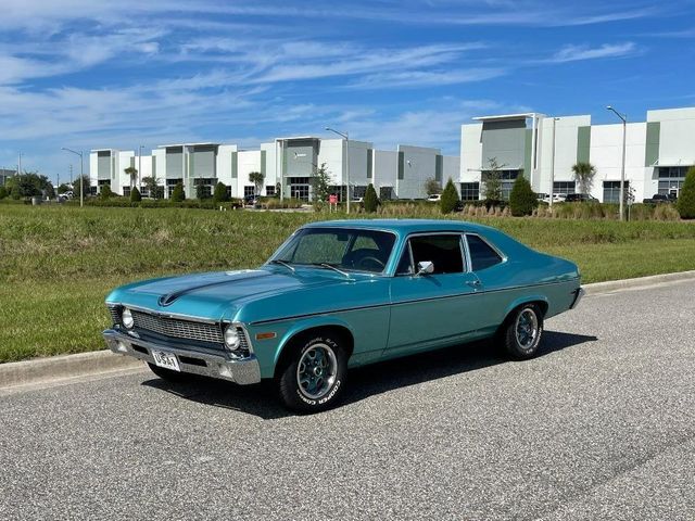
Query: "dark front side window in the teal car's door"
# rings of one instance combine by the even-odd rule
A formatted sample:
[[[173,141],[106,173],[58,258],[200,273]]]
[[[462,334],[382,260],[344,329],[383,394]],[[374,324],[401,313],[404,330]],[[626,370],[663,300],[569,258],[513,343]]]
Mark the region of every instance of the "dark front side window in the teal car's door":
[[[417,272],[417,264],[425,260],[434,264],[433,275],[463,272],[460,234],[442,233],[409,238],[399,262],[396,275],[413,275]]]

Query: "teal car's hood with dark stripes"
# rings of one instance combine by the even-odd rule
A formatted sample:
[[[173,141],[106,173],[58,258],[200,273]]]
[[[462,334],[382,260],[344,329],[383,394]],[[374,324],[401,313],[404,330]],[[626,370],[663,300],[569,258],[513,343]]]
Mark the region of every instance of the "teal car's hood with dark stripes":
[[[244,303],[311,287],[354,282],[328,270],[264,267],[144,280],[114,290],[106,303],[205,319],[230,319]],[[285,268],[282,268],[285,269]]]

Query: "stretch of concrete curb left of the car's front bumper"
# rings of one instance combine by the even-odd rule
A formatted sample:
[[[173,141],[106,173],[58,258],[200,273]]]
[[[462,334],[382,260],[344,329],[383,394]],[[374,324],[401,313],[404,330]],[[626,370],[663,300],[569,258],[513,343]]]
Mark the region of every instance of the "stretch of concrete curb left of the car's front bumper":
[[[142,361],[109,350],[0,364],[0,389],[68,378],[134,370]]]

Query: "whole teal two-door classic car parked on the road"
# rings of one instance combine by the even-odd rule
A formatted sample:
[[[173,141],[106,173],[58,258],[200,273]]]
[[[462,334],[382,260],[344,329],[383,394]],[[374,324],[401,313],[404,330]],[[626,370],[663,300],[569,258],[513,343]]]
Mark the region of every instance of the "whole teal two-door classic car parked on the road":
[[[163,379],[268,379],[287,407],[317,411],[350,367],[489,336],[532,357],[544,319],[582,294],[573,263],[494,228],[334,220],[300,228],[257,269],[117,288],[103,334]]]

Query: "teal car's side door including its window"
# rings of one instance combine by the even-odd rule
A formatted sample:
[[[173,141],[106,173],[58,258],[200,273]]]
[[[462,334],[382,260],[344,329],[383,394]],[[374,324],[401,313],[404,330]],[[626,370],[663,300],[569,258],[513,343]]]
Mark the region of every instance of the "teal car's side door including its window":
[[[418,263],[433,263],[418,274]],[[482,291],[467,268],[460,233],[418,233],[407,239],[391,279],[387,355],[396,356],[458,343],[478,328]]]

